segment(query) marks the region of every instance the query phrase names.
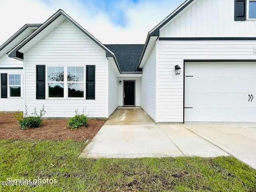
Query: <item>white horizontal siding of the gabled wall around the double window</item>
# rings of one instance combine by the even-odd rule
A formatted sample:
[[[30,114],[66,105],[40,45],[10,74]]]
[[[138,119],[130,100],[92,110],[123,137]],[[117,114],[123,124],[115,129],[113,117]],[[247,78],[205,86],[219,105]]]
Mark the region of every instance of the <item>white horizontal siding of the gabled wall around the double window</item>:
[[[36,100],[36,65],[84,67],[95,65],[95,100],[80,98]],[[44,104],[46,110],[44,117],[72,117],[75,115],[76,109],[81,114],[83,108],[86,108],[84,114],[89,114],[89,117],[107,117],[106,66],[106,52],[64,20],[62,24],[24,54],[28,114],[33,112],[35,107],[39,111]]]

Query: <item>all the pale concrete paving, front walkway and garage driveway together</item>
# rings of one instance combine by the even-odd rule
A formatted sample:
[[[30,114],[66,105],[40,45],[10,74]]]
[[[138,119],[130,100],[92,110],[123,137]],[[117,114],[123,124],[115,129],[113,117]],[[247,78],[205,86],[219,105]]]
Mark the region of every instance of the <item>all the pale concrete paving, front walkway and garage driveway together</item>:
[[[80,157],[228,155],[256,168],[256,124],[155,124],[142,109],[118,109]]]

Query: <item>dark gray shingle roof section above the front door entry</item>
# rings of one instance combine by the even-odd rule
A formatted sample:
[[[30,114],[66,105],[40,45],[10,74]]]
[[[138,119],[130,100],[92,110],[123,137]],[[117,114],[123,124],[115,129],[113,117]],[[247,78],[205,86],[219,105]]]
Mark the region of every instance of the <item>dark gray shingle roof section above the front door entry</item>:
[[[141,72],[138,64],[144,45],[108,44],[105,46],[116,55],[121,72]]]

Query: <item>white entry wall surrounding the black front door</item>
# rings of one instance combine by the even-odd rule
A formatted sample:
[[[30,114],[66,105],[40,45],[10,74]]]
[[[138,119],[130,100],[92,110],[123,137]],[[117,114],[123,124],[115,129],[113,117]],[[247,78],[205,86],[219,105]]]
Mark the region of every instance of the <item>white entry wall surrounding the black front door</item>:
[[[135,106],[140,106],[140,77],[118,77],[118,82],[121,81],[122,84],[118,83],[118,106],[124,106],[124,80],[135,80]],[[132,75],[131,75],[132,76]]]

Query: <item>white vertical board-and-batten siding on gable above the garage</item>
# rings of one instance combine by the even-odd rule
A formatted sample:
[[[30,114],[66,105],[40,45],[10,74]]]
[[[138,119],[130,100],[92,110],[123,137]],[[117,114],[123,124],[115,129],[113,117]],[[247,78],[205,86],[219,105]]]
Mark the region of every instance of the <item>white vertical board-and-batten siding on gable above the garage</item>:
[[[195,0],[160,37],[256,37],[256,20],[234,21],[234,0]]]

